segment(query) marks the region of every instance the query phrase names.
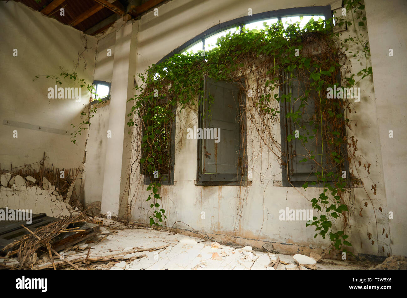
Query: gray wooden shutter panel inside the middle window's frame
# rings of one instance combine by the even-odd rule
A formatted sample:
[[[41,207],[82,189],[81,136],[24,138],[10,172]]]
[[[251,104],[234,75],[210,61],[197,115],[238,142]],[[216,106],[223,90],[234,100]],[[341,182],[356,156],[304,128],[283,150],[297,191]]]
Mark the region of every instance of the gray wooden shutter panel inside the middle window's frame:
[[[239,131],[239,87],[237,83],[206,79],[202,128],[220,128],[219,143],[202,140],[202,173],[237,174],[241,134]]]

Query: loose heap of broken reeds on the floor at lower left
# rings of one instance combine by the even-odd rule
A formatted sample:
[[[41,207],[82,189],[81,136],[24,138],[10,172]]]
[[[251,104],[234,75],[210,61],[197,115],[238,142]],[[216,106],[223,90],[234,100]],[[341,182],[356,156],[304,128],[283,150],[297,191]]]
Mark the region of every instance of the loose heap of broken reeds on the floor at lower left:
[[[53,260],[52,246],[53,240],[60,234],[65,233],[68,226],[74,222],[92,222],[92,220],[86,216],[85,212],[91,208],[86,209],[78,215],[70,215],[63,219],[55,220],[45,226],[37,228],[35,231],[30,231],[29,234],[22,236],[20,239],[13,241],[3,248],[3,251],[11,250],[8,255],[12,256],[17,254],[19,260],[19,269],[32,268],[35,261],[33,260],[33,254],[42,247],[46,247],[50,255],[50,259]],[[26,228],[28,230],[28,228]],[[68,230],[75,232],[75,230]],[[55,269],[55,265],[54,265]]]

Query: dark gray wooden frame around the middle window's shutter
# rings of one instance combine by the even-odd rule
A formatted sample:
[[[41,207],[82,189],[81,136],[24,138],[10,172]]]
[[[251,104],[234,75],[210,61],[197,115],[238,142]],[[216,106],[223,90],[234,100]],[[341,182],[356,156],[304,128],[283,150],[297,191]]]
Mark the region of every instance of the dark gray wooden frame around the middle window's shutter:
[[[204,97],[207,96],[207,88],[206,88],[206,80],[207,77],[204,76]],[[225,81],[228,82],[228,81]],[[230,83],[230,82],[229,82]],[[246,106],[246,96],[245,93],[241,92],[241,102],[239,102],[239,112],[240,107]],[[199,107],[198,107],[198,126],[197,128],[203,128],[203,117],[202,112],[204,109],[204,101],[201,100],[201,96],[199,98]],[[202,157],[202,150],[203,150],[203,140],[197,139],[197,180],[196,185],[240,185],[246,186],[251,183],[251,181],[247,181],[247,123],[246,123],[246,112],[242,111],[238,114],[239,116],[239,128],[241,129],[240,136],[240,148],[243,150],[243,157],[242,157],[242,164],[244,167],[243,174],[232,174],[232,173],[217,173],[217,174],[205,174],[201,173],[201,157]],[[239,165],[238,165],[239,167]]]

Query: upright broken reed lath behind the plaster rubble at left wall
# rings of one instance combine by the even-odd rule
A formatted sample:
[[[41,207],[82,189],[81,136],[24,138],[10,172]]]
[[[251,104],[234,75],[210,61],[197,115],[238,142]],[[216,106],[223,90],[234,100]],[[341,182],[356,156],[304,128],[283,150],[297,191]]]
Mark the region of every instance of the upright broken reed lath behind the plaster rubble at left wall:
[[[37,184],[41,189],[44,189],[42,180],[43,178],[46,178],[51,185],[55,186],[55,190],[62,196],[63,200],[66,200],[70,186],[72,185],[72,183],[74,183],[78,174],[81,174],[81,168],[77,167],[71,169],[65,168],[61,169],[59,167],[58,168],[54,167],[53,163],[51,163],[49,167],[45,167],[45,159],[46,155],[44,152],[44,157],[42,158],[42,160],[36,162],[39,163],[38,170],[36,168],[31,167],[31,165],[35,163],[32,163],[30,165],[24,165],[21,167],[21,169],[18,169],[18,167],[13,167],[13,165],[10,163],[11,171],[1,170],[0,167],[0,175],[4,172],[10,172],[11,178],[17,175],[20,175],[24,178],[26,176],[32,176],[35,179],[37,179],[37,181],[35,181],[35,183],[33,184],[34,185]],[[61,171],[64,171],[64,178],[60,177]],[[72,190],[72,195],[70,197],[68,204],[70,204],[73,208],[77,207],[79,210],[83,210],[83,206],[81,202],[79,202],[78,195],[76,194],[75,189]]]

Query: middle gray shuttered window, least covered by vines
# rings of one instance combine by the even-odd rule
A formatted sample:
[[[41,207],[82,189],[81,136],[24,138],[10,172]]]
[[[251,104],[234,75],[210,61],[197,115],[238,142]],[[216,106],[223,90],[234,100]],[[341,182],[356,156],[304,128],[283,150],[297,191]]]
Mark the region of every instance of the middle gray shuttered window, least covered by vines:
[[[205,79],[197,128],[197,184],[247,184],[244,105],[238,83]]]

